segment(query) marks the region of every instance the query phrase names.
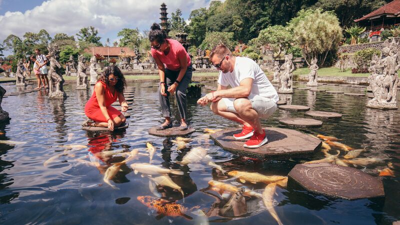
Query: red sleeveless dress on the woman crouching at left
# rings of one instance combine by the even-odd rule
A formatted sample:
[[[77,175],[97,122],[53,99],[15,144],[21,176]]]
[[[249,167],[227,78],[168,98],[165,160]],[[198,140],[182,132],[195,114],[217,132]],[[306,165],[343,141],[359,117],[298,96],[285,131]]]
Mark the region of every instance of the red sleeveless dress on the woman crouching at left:
[[[115,93],[112,94],[112,92],[109,90],[109,88],[107,88],[107,85],[103,81],[100,80],[98,82],[100,82],[105,89],[104,101],[109,117],[113,119],[116,116],[122,114],[116,108],[111,106],[111,104],[118,98],[118,91],[115,90]],[[93,91],[90,99],[86,102],[86,105],[84,106],[84,113],[87,117],[89,117],[89,119],[92,119],[93,121],[107,122],[103,113],[101,112],[100,106],[98,105],[95,91]]]

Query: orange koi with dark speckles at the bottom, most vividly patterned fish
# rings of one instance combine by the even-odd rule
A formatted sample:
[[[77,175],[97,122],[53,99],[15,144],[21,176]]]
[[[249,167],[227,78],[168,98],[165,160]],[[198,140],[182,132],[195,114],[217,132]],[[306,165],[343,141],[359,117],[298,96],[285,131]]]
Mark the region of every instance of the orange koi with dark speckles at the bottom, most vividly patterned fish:
[[[187,219],[193,219],[192,217],[184,214],[186,211],[189,211],[191,209],[188,209],[176,202],[170,202],[168,200],[152,196],[137,196],[137,200],[139,200],[147,207],[155,209],[158,213],[161,213],[163,215],[172,217],[183,216]],[[193,208],[198,208],[198,206],[195,206]]]

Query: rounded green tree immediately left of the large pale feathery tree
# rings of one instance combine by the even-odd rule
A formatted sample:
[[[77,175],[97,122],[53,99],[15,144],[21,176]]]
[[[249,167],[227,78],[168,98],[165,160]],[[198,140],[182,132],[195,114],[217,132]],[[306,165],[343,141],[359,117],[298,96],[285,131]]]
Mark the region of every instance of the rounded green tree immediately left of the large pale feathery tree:
[[[269,44],[274,51],[273,59],[280,57],[293,42],[293,34],[289,28],[282,25],[268,26],[261,30],[258,37],[251,40],[257,47]]]

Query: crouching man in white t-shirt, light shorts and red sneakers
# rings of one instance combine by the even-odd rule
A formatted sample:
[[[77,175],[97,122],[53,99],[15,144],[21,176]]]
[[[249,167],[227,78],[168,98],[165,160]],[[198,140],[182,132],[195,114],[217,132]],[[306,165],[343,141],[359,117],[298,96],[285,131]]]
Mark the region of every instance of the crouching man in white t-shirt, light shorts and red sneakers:
[[[243,129],[233,137],[250,137],[244,147],[256,148],[265,144],[268,139],[260,118],[268,118],[276,110],[279,98],[275,88],[257,63],[250,58],[233,56],[223,44],[211,50],[209,59],[221,70],[218,88],[198,99],[197,103],[206,105],[211,102],[215,114],[240,123]]]

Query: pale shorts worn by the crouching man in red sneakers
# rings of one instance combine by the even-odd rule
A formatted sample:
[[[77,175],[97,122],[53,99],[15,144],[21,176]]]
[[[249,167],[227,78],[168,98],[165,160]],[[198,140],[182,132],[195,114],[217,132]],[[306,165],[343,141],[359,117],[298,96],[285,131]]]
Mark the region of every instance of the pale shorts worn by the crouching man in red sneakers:
[[[271,98],[262,97],[260,95],[249,95],[247,98],[251,102],[251,107],[258,112],[260,118],[268,118],[277,108],[276,103]],[[236,98],[224,97],[221,99],[225,103],[227,111],[237,113],[233,106],[233,101],[235,99]]]

